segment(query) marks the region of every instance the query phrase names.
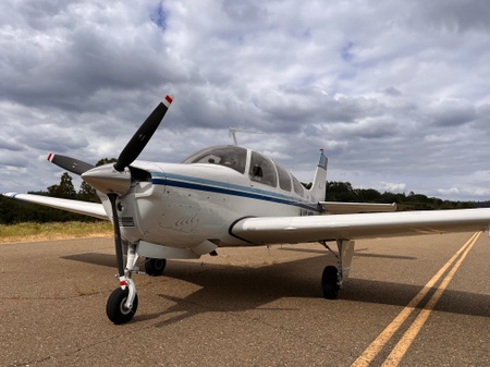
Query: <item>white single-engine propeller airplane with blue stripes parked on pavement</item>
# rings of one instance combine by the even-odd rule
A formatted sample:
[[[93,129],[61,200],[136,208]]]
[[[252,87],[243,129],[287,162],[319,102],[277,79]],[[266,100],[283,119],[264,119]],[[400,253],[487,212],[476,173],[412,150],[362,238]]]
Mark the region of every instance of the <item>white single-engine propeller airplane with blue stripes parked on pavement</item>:
[[[106,314],[113,323],[132,320],[137,310],[132,276],[161,276],[167,259],[216,256],[219,247],[318,242],[336,257],[336,266],[321,274],[323,297],[333,299],[348,277],[355,240],[485,231],[490,224],[490,209],[395,211],[394,204],[324,201],[323,150],[309,189],[281,164],[237,145],[206,148],[182,163],[136,160],[172,100],[169,95],[157,106],[115,163],[94,167],[48,156],[96,188],[101,204],[2,193],[112,222],[119,288],[108,297]]]

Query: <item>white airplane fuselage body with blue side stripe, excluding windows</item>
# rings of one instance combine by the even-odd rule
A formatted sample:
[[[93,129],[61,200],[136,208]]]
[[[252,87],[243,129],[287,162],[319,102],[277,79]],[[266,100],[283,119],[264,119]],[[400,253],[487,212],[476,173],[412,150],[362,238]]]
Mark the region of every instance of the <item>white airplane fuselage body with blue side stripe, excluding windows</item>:
[[[303,187],[296,193],[293,181],[298,182],[292,175],[290,189],[253,180],[250,154],[247,150],[244,173],[212,163],[135,161],[131,169],[146,179],[134,181],[119,200],[122,237],[189,249],[206,241],[218,247],[244,246],[252,244],[229,233],[243,218],[320,213],[319,198]],[[100,197],[112,218],[107,196]]]

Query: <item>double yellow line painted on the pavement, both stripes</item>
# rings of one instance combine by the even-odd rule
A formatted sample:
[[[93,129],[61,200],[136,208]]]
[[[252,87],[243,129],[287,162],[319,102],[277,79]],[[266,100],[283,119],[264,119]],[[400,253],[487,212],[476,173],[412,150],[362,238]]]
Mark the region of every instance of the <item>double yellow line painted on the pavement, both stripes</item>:
[[[384,347],[388,341],[393,337],[393,334],[402,327],[403,322],[411,316],[411,314],[417,308],[427,293],[433,288],[433,285],[439,281],[439,279],[445,273],[445,271],[451,267],[445,278],[442,280],[441,284],[437,288],[436,292],[432,294],[427,304],[422,307],[414,322],[411,325],[408,330],[400,339],[399,343],[393,347],[390,355],[387,357],[382,366],[397,366],[405,355],[408,347],[414,342],[418,332],[422,328],[424,323],[429,318],[439,298],[441,298],[442,293],[448,288],[449,283],[453,279],[455,272],[460,268],[461,264],[468,255],[473,245],[475,245],[481,232],[475,233],[471,238],[466,242],[462,248],[457,250],[454,256],[444,264],[444,266],[432,277],[429,282],[424,285],[420,292],[405,306],[405,308],[395,317],[395,319],[375,339],[375,341],[369,344],[369,346],[363,352],[363,354],[352,364],[351,367],[364,367],[369,366],[370,363],[376,358],[378,353]],[[462,255],[463,254],[463,255]],[[460,256],[461,255],[461,256]],[[456,261],[457,260],[457,261]]]

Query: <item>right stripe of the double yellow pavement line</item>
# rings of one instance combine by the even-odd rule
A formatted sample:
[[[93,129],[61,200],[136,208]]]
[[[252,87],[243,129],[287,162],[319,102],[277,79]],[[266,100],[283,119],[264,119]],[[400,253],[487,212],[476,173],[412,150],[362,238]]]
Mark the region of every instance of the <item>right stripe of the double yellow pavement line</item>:
[[[415,337],[417,337],[417,334],[419,333],[424,323],[426,323],[427,319],[429,318],[430,314],[432,313],[436,304],[441,298],[442,293],[448,288],[449,283],[451,282],[454,274],[456,273],[457,269],[461,267],[466,255],[468,255],[469,250],[475,245],[480,233],[481,232],[478,233],[478,235],[475,237],[475,240],[471,242],[471,244],[466,248],[466,250],[463,253],[461,258],[457,260],[457,262],[450,270],[450,272],[444,278],[444,280],[441,282],[441,284],[439,285],[436,293],[432,295],[432,297],[430,297],[429,302],[427,302],[427,304],[424,306],[424,309],[420,311],[420,314],[418,314],[415,321],[412,323],[412,326],[408,328],[408,330],[405,332],[405,334],[402,337],[402,339],[399,341],[399,343],[395,345],[395,347],[391,351],[390,355],[382,364],[383,367],[397,366],[400,364],[403,356],[407,352],[408,347],[414,342]]]

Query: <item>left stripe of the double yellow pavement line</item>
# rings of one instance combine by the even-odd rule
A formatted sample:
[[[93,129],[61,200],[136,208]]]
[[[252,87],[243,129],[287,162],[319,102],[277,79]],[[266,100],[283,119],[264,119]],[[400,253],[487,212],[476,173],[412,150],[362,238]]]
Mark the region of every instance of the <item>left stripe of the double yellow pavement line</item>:
[[[449,259],[448,262],[430,279],[426,285],[418,292],[418,294],[406,305],[402,311],[394,318],[393,321],[376,338],[371,344],[363,352],[362,355],[357,357],[356,360],[351,365],[351,367],[367,367],[376,358],[378,353],[383,348],[388,341],[393,337],[393,334],[400,329],[400,327],[405,322],[405,320],[411,316],[411,314],[416,309],[418,304],[424,299],[427,293],[432,289],[432,286],[439,281],[442,274],[448,270],[448,268],[456,260],[456,258],[462,254],[478,236],[480,232],[476,232],[464,245],[461,247],[456,254]]]

